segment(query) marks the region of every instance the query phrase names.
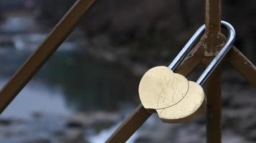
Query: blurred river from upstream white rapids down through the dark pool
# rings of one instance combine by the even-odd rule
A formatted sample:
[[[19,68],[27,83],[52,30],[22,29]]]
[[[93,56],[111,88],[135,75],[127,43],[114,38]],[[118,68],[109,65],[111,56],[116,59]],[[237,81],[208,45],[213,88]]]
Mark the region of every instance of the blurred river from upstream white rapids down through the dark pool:
[[[33,16],[26,14],[11,14],[0,24],[1,87],[46,38],[47,34],[37,29]],[[65,114],[72,109],[117,110],[119,101],[131,99],[131,88],[136,87],[134,78],[116,64],[90,57],[85,43],[79,30],[73,32],[3,116],[28,117],[33,112]],[[131,88],[127,88],[128,84],[132,84]]]

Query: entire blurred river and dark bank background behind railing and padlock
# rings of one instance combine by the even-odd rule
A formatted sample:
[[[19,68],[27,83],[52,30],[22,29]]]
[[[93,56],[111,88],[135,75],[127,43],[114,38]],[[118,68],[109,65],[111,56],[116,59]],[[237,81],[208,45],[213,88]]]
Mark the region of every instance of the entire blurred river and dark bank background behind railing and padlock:
[[[0,86],[75,0],[0,1]],[[98,0],[0,117],[0,142],[101,143],[140,103],[138,82],[169,65],[204,24],[204,0]],[[223,0],[235,46],[256,64],[256,1]],[[256,142],[256,90],[224,63],[222,140]],[[191,78],[200,74],[197,69]],[[128,141],[206,142],[205,115],[186,124],[152,116]]]

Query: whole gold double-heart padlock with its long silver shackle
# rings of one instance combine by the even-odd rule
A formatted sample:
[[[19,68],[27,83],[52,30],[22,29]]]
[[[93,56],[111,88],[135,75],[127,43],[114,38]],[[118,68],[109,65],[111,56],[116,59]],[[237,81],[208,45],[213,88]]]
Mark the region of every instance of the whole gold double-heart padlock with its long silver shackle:
[[[179,66],[192,49],[196,40],[202,35],[205,26],[196,31],[169,67],[156,66],[143,75],[138,88],[143,107],[150,112],[152,110],[157,112],[163,122],[186,122],[199,114],[206,102],[201,86],[222,61],[234,42],[233,26],[225,21],[222,21],[222,26],[225,26],[229,32],[227,42],[196,82],[191,82],[172,70]]]

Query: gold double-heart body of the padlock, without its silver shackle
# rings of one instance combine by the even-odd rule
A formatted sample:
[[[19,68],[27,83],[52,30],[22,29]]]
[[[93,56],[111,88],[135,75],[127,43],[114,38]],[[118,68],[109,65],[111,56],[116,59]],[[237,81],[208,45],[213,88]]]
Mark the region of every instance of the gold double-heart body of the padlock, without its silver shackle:
[[[156,110],[163,122],[186,122],[204,107],[204,90],[166,66],[156,66],[143,75],[138,87],[143,107]]]

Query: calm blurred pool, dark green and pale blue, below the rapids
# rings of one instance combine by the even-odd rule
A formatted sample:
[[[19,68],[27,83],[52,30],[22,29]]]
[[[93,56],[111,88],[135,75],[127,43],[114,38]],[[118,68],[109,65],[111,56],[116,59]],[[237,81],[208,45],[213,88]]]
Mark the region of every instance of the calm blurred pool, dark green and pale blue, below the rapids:
[[[69,110],[117,111],[120,102],[133,102],[135,79],[115,64],[90,59],[82,52],[85,51],[57,51],[3,116],[27,117],[33,112],[66,114]],[[30,50],[0,51],[1,87],[30,54]]]

